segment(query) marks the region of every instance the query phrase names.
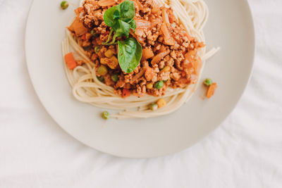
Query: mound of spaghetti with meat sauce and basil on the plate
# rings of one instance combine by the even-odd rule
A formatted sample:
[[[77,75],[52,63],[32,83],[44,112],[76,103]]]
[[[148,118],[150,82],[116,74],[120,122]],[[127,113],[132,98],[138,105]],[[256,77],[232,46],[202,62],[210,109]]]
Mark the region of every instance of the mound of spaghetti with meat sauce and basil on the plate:
[[[85,0],[80,5],[63,41],[66,75],[76,99],[119,110],[114,118],[176,111],[218,50],[206,53],[202,29],[208,9],[202,0]]]

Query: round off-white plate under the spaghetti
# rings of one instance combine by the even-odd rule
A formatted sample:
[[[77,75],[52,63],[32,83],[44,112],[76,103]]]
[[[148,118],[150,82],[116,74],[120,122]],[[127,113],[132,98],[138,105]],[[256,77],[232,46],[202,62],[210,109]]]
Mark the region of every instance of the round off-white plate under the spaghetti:
[[[149,158],[181,151],[220,125],[235,107],[249,80],[255,49],[254,27],[245,0],[207,0],[207,46],[221,46],[207,62],[203,77],[218,82],[216,94],[202,100],[197,89],[188,104],[170,115],[104,121],[103,109],[76,101],[61,56],[64,28],[78,1],[62,11],[61,0],[33,1],[27,22],[27,66],[40,101],[54,120],[80,142],[115,156]]]

